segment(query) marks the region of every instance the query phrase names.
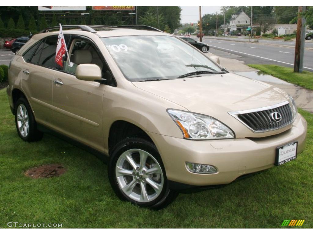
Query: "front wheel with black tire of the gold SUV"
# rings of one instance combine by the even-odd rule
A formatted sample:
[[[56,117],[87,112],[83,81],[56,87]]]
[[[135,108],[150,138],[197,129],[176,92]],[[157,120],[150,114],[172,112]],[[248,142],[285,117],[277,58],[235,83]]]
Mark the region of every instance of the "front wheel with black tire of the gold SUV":
[[[156,146],[141,138],[127,138],[110,155],[108,175],[121,200],[141,207],[161,209],[177,193],[168,188],[165,169]]]

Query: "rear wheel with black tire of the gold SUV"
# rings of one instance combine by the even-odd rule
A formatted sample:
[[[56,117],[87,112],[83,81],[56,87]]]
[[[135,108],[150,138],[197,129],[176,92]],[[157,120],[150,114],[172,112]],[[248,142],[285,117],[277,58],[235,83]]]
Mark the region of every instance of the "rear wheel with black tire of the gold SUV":
[[[20,97],[14,107],[15,125],[20,138],[28,142],[42,139],[43,133],[37,130],[37,123],[28,101]]]

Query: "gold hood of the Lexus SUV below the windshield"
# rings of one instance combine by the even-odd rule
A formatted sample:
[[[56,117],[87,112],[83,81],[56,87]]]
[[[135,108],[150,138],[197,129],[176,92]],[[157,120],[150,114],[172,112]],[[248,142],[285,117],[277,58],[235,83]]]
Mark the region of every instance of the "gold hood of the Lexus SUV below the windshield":
[[[133,82],[133,85],[181,105],[191,112],[215,118],[218,113],[224,115],[229,111],[266,107],[287,100],[287,94],[275,86],[234,73]]]

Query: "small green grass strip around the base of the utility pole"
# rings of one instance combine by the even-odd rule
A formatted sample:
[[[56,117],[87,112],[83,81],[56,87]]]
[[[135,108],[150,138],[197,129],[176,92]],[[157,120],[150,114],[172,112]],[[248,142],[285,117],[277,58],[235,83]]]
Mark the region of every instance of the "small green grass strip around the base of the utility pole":
[[[248,64],[248,66],[259,69],[281,80],[313,90],[313,72],[303,71],[302,73],[296,73],[293,72],[293,68],[277,65]]]

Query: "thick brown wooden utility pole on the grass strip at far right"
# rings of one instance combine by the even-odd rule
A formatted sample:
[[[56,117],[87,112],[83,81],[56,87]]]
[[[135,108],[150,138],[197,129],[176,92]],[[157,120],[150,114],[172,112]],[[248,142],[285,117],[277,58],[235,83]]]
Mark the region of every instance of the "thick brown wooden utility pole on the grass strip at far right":
[[[303,71],[304,39],[305,39],[305,17],[301,13],[305,11],[305,6],[298,7],[297,37],[295,41],[295,64],[294,72]]]

